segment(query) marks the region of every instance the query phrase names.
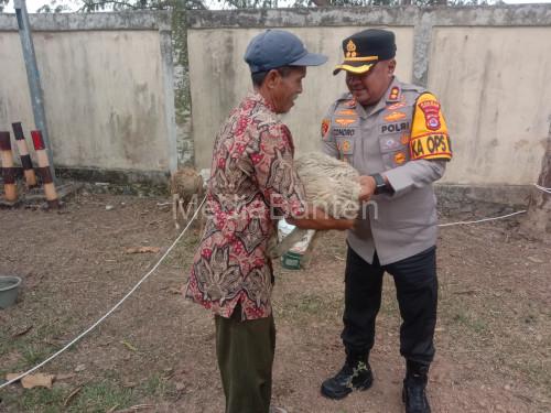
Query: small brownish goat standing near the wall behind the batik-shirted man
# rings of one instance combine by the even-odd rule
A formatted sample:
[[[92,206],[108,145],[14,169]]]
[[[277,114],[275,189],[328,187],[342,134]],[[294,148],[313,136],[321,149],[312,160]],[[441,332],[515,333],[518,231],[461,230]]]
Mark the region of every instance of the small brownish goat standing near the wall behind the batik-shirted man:
[[[179,213],[186,224],[188,214],[193,215],[203,200],[203,177],[193,167],[183,167],[171,175],[169,186],[172,194],[172,217],[176,229],[180,229]],[[202,218],[199,220],[203,222]]]

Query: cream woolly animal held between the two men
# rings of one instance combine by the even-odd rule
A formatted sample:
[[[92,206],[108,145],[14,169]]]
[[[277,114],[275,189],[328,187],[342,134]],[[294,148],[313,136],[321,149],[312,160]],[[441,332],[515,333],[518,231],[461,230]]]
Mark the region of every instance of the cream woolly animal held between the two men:
[[[304,185],[309,205],[324,210],[333,218],[350,219],[358,215],[361,187],[355,180],[359,173],[352,165],[324,153],[312,152],[296,157],[294,169]],[[280,243],[271,247],[272,258],[285,253],[306,231],[294,228]]]

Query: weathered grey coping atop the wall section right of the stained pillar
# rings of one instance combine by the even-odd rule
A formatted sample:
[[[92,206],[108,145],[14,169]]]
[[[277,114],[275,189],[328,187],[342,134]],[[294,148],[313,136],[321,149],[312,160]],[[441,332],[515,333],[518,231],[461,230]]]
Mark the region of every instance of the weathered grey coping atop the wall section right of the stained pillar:
[[[193,10],[187,13],[187,28],[414,26],[425,19],[433,26],[551,25],[551,4]]]

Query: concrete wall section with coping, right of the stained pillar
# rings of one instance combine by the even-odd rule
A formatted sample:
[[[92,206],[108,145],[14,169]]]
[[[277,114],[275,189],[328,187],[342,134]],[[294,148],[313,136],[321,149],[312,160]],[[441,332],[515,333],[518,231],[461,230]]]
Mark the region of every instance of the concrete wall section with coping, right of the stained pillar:
[[[332,68],[342,40],[365,28],[397,33],[398,76],[442,100],[455,150],[447,184],[527,185],[541,169],[551,122],[551,7],[370,8],[194,12],[188,15],[195,159],[208,167],[213,140],[251,89],[242,55],[266,28],[284,28],[329,56],[309,68],[284,121],[299,152],[311,151],[326,108],[345,91]]]

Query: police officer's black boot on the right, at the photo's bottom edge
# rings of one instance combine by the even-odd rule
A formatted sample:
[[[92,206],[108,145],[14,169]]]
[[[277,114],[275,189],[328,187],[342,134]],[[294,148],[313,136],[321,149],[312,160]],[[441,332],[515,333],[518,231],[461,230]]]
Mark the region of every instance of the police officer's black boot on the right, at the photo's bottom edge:
[[[402,390],[406,413],[431,413],[431,406],[426,399],[428,373],[429,366],[408,360]]]

